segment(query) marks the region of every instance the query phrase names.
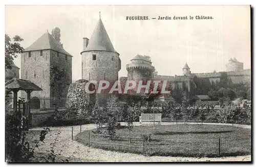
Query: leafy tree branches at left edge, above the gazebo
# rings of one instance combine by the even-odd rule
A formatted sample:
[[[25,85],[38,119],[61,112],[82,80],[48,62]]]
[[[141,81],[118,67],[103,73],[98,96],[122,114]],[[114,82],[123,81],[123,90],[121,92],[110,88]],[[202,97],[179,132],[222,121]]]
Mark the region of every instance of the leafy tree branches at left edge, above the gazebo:
[[[5,34],[5,69],[11,69],[13,64],[13,59],[18,56],[18,54],[24,52],[24,48],[20,46],[19,42],[22,42],[23,39],[15,35],[13,41],[9,35]]]

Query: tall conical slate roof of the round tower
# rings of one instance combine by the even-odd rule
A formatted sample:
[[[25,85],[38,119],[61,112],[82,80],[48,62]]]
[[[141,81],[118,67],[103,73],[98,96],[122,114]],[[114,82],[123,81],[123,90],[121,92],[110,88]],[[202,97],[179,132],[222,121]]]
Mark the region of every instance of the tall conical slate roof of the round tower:
[[[116,52],[101,19],[99,19],[85,51]]]

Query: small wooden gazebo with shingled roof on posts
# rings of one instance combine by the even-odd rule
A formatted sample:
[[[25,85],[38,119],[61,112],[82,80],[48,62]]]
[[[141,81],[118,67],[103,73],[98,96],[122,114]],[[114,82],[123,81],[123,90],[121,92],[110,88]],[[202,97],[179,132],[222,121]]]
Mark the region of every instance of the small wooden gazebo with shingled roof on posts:
[[[17,106],[18,106],[18,91],[19,90],[24,90],[27,92],[27,113],[28,113],[28,120],[30,120],[30,99],[31,99],[31,92],[33,90],[42,90],[39,86],[37,86],[36,84],[34,84],[33,82],[29,81],[29,80],[23,80],[23,79],[19,79],[19,78],[13,78],[10,81],[7,81],[5,83],[5,88],[7,90],[10,90],[13,92],[13,111],[18,112]]]

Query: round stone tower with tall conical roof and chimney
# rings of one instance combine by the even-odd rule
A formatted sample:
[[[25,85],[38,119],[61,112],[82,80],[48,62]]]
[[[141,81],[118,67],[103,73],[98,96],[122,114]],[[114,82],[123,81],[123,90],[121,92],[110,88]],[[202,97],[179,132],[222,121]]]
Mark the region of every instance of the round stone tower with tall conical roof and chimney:
[[[104,25],[99,19],[91,39],[83,38],[82,79],[105,80],[114,83],[121,69],[119,54],[115,51]]]

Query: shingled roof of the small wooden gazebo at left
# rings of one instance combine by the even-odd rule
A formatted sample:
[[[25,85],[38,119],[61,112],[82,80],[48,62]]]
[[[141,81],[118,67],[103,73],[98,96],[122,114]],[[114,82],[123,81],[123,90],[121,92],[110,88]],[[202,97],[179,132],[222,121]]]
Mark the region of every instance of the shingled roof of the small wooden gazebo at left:
[[[29,80],[13,78],[5,83],[5,87],[12,90],[42,90],[39,86]]]

